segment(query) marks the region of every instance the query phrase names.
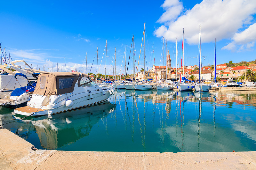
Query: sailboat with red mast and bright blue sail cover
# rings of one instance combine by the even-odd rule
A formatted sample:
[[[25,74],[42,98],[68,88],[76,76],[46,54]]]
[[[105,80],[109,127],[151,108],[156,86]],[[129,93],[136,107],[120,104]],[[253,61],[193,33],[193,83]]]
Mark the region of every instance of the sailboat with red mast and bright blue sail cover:
[[[181,52],[181,66],[180,66],[180,84],[178,85],[178,89],[180,92],[182,91],[191,91],[194,86],[192,83],[185,83],[185,82],[193,82],[191,80],[188,80],[185,77],[181,78],[181,68],[182,68],[182,55],[184,58],[184,28],[183,28],[183,35],[182,35],[182,52]],[[184,59],[183,59],[184,60]],[[184,61],[183,61],[183,70],[184,70]],[[184,74],[184,71],[183,71]],[[182,81],[181,81],[182,80]]]

